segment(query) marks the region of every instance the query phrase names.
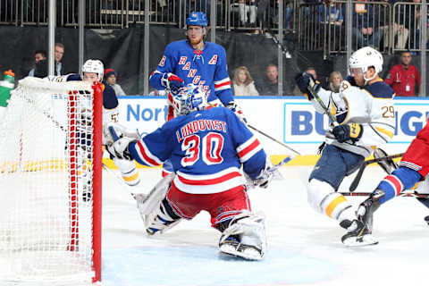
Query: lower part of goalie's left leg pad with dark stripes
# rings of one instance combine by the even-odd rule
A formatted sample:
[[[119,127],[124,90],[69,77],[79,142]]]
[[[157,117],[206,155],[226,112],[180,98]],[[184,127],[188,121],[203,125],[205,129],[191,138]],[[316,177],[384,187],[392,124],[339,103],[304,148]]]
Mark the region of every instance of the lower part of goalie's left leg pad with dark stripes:
[[[172,210],[166,198],[150,214],[145,215],[146,231],[150,235],[171,229],[180,222],[181,216]]]

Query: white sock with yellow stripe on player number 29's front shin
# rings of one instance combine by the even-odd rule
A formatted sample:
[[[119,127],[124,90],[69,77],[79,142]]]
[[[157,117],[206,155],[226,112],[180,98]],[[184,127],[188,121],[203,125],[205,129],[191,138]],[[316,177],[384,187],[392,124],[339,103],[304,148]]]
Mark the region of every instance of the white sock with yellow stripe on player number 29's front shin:
[[[325,181],[311,180],[308,183],[307,195],[308,203],[319,213],[324,213],[339,222],[355,218],[347,199],[335,192]]]

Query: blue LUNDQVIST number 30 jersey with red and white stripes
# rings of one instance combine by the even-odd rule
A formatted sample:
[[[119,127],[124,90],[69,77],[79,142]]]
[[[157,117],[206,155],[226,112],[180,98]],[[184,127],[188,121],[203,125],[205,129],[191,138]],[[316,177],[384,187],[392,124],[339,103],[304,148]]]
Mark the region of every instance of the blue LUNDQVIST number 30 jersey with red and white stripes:
[[[253,180],[265,168],[265,151],[231,110],[220,106],[179,116],[130,143],[140,164],[156,166],[171,159],[174,185],[192,194],[218,193]]]

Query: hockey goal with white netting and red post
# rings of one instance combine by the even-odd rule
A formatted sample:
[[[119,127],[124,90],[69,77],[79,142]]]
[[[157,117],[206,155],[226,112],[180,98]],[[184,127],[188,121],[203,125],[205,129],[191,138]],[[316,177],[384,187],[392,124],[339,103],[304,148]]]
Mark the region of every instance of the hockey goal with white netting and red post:
[[[12,91],[0,119],[1,285],[100,280],[102,94],[94,90],[28,77]]]

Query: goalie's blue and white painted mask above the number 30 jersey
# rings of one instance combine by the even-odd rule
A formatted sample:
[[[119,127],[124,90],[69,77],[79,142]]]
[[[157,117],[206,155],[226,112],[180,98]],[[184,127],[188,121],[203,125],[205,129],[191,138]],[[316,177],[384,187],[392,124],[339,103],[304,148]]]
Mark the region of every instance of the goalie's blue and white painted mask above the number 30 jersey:
[[[175,115],[186,115],[193,111],[205,110],[206,92],[200,86],[189,84],[180,88],[178,93],[172,96],[172,105]]]

